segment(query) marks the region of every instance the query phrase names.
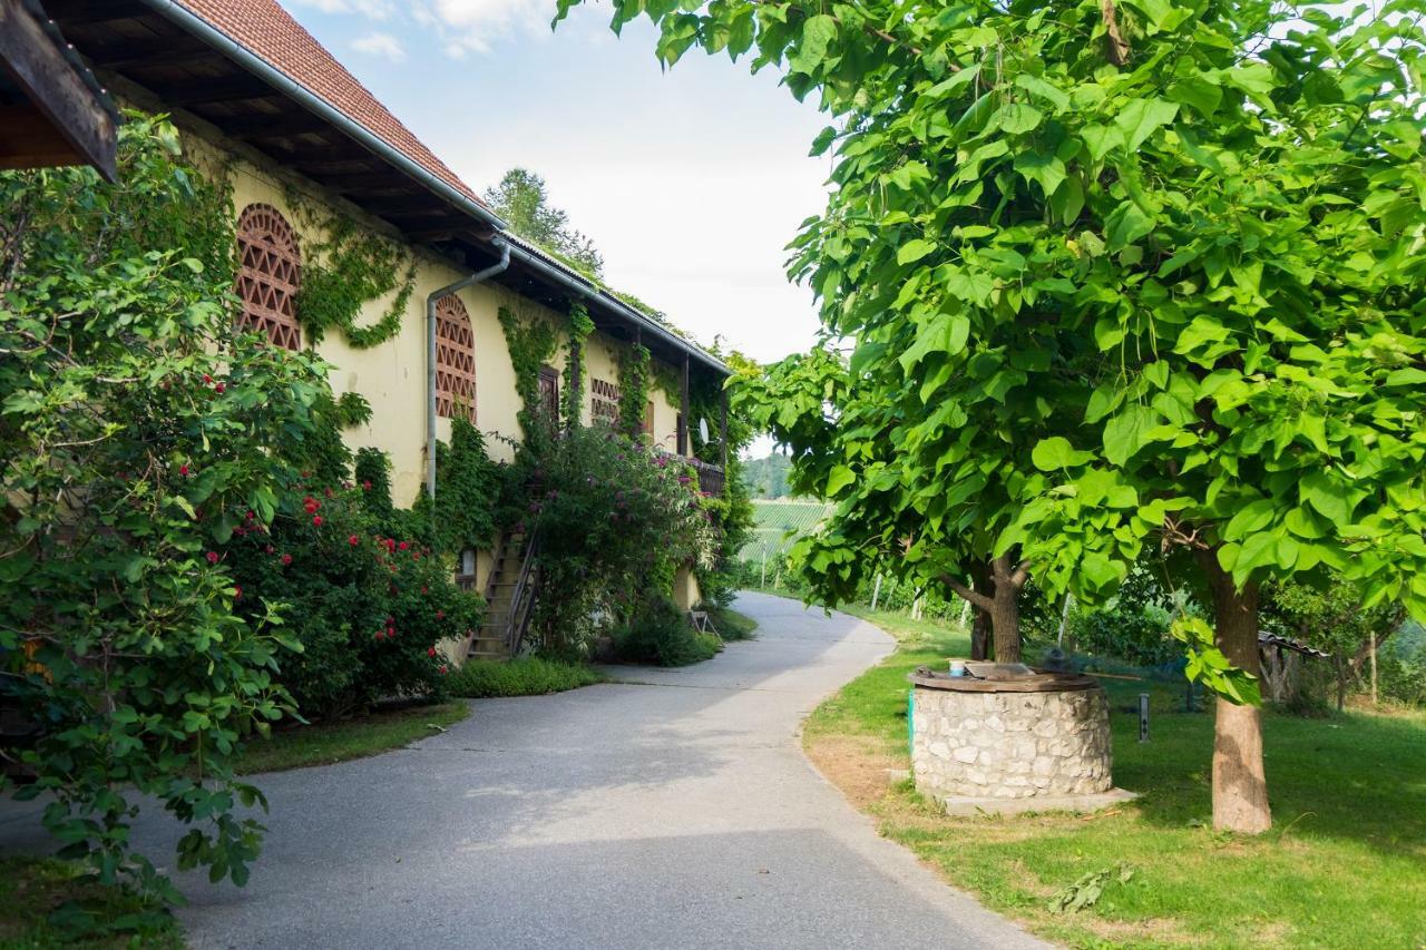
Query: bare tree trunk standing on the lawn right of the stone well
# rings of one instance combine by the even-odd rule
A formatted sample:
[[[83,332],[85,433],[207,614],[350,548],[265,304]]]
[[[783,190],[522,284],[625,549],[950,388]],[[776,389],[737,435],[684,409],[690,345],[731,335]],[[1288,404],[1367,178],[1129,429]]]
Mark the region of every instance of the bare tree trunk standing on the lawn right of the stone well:
[[[1214,591],[1218,648],[1233,666],[1258,675],[1258,585],[1243,589],[1204,552]],[[1214,827],[1261,834],[1272,827],[1262,763],[1262,710],[1219,698],[1214,716]]]

